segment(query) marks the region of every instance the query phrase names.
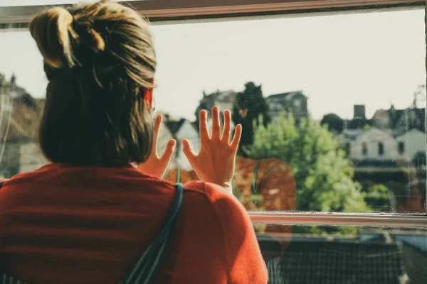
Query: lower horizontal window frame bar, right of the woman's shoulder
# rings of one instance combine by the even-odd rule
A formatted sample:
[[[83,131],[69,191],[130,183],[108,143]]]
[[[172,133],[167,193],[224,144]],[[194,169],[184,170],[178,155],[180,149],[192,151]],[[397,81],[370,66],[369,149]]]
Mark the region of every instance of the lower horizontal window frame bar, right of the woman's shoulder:
[[[427,214],[248,212],[255,224],[426,228]]]

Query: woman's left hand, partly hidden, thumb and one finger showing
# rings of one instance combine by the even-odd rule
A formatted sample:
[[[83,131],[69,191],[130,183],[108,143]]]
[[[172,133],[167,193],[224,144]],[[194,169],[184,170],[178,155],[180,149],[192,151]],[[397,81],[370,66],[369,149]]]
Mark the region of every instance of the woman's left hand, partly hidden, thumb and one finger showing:
[[[157,114],[156,120],[154,121],[152,153],[149,155],[149,158],[145,161],[145,163],[138,165],[139,170],[142,170],[144,173],[148,173],[149,175],[154,175],[157,178],[163,178],[163,175],[167,169],[167,165],[169,165],[169,161],[174,154],[174,149],[176,146],[176,141],[173,139],[169,140],[162,157],[159,157],[157,143],[159,143],[159,129],[161,124],[162,114]]]

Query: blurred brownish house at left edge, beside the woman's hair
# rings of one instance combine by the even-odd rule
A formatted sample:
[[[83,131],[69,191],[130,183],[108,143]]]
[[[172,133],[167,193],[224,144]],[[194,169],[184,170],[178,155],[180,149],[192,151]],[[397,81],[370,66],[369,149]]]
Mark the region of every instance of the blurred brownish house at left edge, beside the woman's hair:
[[[36,170],[48,163],[36,143],[36,130],[43,107],[25,89],[0,75],[0,176]]]

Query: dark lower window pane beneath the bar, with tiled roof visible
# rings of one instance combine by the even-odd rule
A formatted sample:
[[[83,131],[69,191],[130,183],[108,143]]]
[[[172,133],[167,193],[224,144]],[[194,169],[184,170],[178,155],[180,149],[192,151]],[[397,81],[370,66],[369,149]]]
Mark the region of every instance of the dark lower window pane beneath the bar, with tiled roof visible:
[[[425,229],[295,226],[258,236],[271,283],[426,282]],[[288,242],[283,249],[280,242]]]

